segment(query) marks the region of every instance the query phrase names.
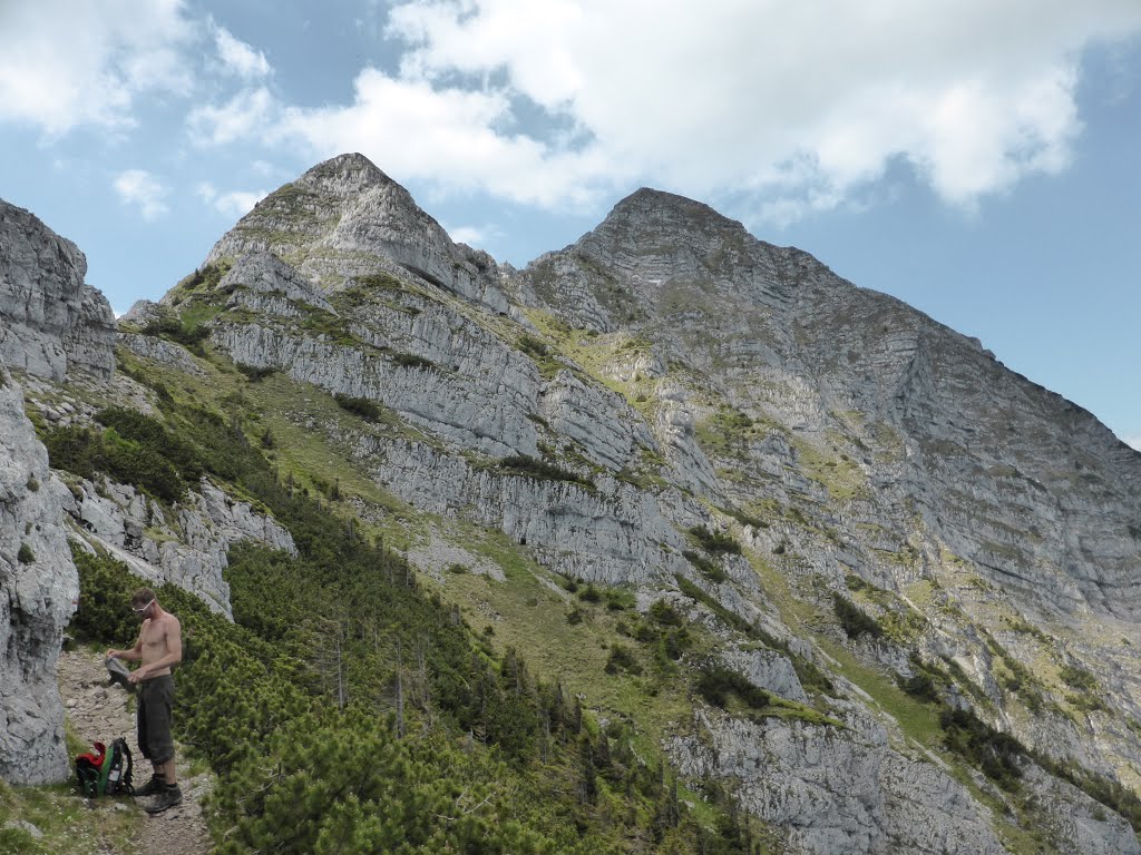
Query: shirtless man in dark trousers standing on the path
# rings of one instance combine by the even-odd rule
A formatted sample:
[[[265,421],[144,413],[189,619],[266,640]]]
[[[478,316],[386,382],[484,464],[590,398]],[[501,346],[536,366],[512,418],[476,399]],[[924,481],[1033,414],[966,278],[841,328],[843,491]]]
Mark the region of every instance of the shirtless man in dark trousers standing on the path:
[[[159,605],[151,588],[139,588],[131,595],[131,609],[143,618],[143,629],[131,650],[108,650],[107,657],[143,665],[131,671],[131,683],[138,684],[139,750],[151,760],[154,774],[136,796],[157,796],[144,809],[156,814],[183,800],[175,773],[175,741],[170,735],[175,678],[171,666],[183,660],[183,630],[178,618]]]

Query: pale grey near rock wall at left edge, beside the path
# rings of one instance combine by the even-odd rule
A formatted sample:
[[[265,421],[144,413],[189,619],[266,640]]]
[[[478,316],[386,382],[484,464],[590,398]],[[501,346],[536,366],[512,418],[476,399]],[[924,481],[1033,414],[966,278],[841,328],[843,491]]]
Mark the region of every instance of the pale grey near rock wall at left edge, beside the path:
[[[60,519],[66,488],[24,415],[24,394],[0,365],[0,779],[70,774],[55,681],[79,578]]]

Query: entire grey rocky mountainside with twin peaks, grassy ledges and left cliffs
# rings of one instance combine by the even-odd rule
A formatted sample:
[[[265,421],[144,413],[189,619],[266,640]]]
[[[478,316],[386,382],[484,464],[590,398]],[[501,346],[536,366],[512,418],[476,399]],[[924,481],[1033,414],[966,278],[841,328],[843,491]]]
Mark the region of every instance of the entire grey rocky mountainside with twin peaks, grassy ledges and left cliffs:
[[[977,340],[652,189],[500,266],[350,154],[112,351],[78,250],[0,223],[5,685],[55,661],[63,532],[236,620],[233,549],[305,547],[32,426],[186,404],[774,852],[1141,852],[1141,454]],[[0,773],[66,774],[58,695],[0,691]]]

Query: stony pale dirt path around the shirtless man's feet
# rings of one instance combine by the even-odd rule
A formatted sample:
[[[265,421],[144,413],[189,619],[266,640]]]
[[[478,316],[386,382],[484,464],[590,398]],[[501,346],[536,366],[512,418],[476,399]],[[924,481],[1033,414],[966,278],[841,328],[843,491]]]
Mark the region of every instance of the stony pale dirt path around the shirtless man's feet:
[[[59,693],[63,695],[76,735],[86,744],[96,740],[111,744],[116,736],[127,739],[135,759],[135,785],[141,787],[151,779],[151,764],[143,759],[135,739],[135,706],[126,691],[107,682],[103,656],[88,650],[64,651],[57,668]],[[163,855],[205,855],[210,852],[210,836],[202,819],[201,798],[209,790],[208,775],[189,776],[183,757],[178,762],[178,783],[183,804],[154,816],[141,824],[139,850]],[[139,799],[141,805],[145,799]]]

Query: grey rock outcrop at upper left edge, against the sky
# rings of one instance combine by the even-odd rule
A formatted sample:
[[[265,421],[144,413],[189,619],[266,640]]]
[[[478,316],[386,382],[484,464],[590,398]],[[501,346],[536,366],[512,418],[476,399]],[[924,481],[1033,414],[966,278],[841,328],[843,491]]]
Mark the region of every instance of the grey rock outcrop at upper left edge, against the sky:
[[[110,380],[115,317],[86,274],[75,244],[0,199],[0,360],[56,381]]]

